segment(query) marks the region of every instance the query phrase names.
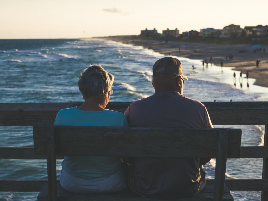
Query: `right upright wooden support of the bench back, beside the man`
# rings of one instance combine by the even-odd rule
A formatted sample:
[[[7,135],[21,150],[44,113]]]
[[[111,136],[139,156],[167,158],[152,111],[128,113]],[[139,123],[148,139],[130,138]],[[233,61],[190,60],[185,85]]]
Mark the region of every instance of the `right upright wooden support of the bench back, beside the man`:
[[[215,167],[213,201],[223,200],[227,151],[228,151],[228,131],[226,128],[221,128],[221,130],[219,131],[218,153]]]

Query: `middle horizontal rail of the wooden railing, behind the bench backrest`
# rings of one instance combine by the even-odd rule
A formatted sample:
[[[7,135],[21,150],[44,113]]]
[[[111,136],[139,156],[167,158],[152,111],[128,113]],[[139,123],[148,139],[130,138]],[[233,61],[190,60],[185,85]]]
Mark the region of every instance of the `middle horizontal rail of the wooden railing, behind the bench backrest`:
[[[33,147],[0,147],[0,158],[46,159],[47,156],[35,154]],[[241,147],[240,158],[268,158],[268,147]]]

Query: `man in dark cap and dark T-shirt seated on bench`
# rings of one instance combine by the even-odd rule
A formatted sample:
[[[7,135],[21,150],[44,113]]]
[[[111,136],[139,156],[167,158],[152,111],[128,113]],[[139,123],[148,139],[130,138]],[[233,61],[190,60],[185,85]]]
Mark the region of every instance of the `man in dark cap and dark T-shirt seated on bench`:
[[[183,96],[181,62],[165,57],[155,62],[152,85],[155,94],[133,102],[125,111],[129,126],[213,128],[206,107]],[[154,139],[152,139],[154,140]],[[210,159],[134,158],[129,170],[129,187],[151,198],[184,198],[206,185],[203,166]]]

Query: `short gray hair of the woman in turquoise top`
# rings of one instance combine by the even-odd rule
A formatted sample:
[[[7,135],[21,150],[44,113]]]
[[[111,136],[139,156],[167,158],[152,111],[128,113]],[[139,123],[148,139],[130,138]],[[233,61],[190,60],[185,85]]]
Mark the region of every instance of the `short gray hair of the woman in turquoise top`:
[[[89,66],[80,73],[78,87],[84,98],[107,92],[114,83],[114,76],[105,71],[101,65]]]

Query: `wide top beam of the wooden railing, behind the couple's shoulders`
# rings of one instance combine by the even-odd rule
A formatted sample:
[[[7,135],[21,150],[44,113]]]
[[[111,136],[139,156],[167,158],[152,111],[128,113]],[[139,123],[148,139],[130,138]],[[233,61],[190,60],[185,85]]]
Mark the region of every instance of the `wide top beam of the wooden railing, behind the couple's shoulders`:
[[[82,103],[0,103],[0,126],[53,125],[59,110]],[[130,103],[108,103],[124,113]],[[213,125],[266,125],[268,102],[203,102]]]

